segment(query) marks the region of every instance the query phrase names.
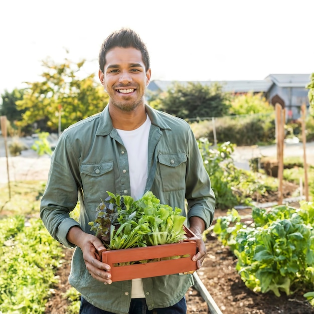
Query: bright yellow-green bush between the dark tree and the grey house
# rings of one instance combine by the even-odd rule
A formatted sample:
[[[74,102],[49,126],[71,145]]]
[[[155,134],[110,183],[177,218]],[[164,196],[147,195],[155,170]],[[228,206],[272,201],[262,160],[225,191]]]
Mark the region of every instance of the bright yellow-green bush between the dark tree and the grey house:
[[[231,115],[267,113],[273,111],[273,106],[269,104],[262,93],[253,94],[249,92],[247,94],[235,95],[230,101],[229,114]]]

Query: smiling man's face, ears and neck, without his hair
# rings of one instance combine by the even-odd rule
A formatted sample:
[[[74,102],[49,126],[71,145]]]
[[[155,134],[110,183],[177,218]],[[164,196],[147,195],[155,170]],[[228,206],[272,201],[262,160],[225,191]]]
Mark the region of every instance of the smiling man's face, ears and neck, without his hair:
[[[112,48],[106,53],[99,79],[109,95],[113,126],[126,130],[140,126],[146,120],[144,94],[150,80],[141,52],[132,47]]]

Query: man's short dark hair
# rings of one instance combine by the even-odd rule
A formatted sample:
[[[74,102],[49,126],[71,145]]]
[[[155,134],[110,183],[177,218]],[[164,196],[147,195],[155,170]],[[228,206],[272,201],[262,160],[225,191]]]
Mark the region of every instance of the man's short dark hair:
[[[122,28],[119,31],[110,34],[101,45],[98,57],[99,69],[101,72],[104,71],[107,52],[115,47],[138,49],[142,54],[145,71],[149,69],[149,55],[146,45],[133,30]]]

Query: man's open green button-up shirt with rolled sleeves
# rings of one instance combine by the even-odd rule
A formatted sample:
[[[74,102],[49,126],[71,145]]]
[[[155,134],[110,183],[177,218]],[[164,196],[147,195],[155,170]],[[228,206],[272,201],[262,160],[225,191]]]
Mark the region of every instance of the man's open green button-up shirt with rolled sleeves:
[[[145,192],[150,190],[162,204],[173,208],[185,209],[187,201],[183,215],[202,218],[208,228],[214,217],[215,196],[189,124],[147,105],[145,108],[151,120]],[[41,201],[41,218],[50,234],[66,247],[73,247],[66,238],[71,227],[80,226],[92,233],[88,222],[95,220],[96,207],[107,197],[106,191],[130,195],[127,151],[112,126],[108,106],[60,136]],[[69,216],[78,200],[79,222]],[[193,277],[174,274],[142,281],[147,306],[152,309],[177,303],[193,284]],[[93,305],[117,314],[128,313],[131,280],[110,285],[95,280],[78,247],[69,282]]]

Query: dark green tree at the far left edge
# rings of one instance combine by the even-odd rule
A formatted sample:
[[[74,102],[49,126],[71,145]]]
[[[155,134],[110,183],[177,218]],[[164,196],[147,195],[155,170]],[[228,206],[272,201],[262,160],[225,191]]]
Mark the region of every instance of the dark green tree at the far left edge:
[[[1,95],[2,105],[0,106],[0,115],[6,115],[10,122],[21,120],[25,110],[19,110],[16,102],[23,99],[23,89],[14,89],[11,93],[6,89]]]

